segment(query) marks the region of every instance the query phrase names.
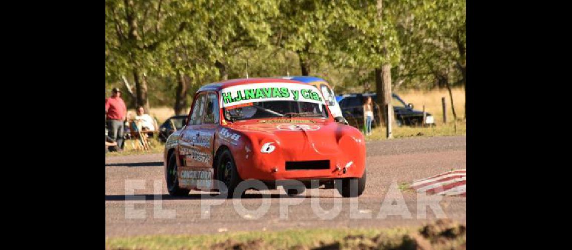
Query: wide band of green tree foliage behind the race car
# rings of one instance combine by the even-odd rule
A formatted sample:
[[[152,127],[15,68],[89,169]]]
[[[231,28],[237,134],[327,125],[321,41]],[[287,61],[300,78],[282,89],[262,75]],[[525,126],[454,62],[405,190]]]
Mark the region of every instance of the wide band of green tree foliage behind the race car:
[[[381,19],[376,5],[106,0],[106,88],[125,89],[123,76],[133,85],[137,71],[145,76],[150,104],[171,106],[178,77],[188,79],[190,99],[201,85],[221,80],[221,73],[229,79],[247,72],[301,75],[301,62],[336,93],[373,91],[373,70],[384,63],[393,66],[394,88],[432,88],[442,76],[460,84],[466,69],[464,1],[385,0]]]

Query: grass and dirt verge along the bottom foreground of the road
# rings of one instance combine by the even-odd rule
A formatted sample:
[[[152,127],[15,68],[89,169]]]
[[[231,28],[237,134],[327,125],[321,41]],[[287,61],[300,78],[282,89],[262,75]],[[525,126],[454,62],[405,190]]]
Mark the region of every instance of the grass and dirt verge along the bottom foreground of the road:
[[[451,220],[423,227],[289,229],[213,235],[157,235],[106,240],[107,249],[459,249],[466,228]]]

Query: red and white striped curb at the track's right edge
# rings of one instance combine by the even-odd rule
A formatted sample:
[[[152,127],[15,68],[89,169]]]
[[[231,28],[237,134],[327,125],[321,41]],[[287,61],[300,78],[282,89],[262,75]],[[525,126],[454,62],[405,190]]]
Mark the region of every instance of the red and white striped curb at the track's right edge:
[[[458,169],[416,180],[410,187],[427,195],[466,196],[466,183],[466,169]]]

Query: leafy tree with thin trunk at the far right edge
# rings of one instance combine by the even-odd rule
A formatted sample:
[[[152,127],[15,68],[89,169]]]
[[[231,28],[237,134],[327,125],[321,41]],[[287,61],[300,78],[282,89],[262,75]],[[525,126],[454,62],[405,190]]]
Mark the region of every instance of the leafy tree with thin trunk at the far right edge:
[[[431,76],[438,87],[448,89],[456,118],[451,85],[460,83],[466,89],[466,2],[412,1],[407,7],[411,11],[400,23],[400,40],[410,44],[404,46],[404,63],[411,76]]]

